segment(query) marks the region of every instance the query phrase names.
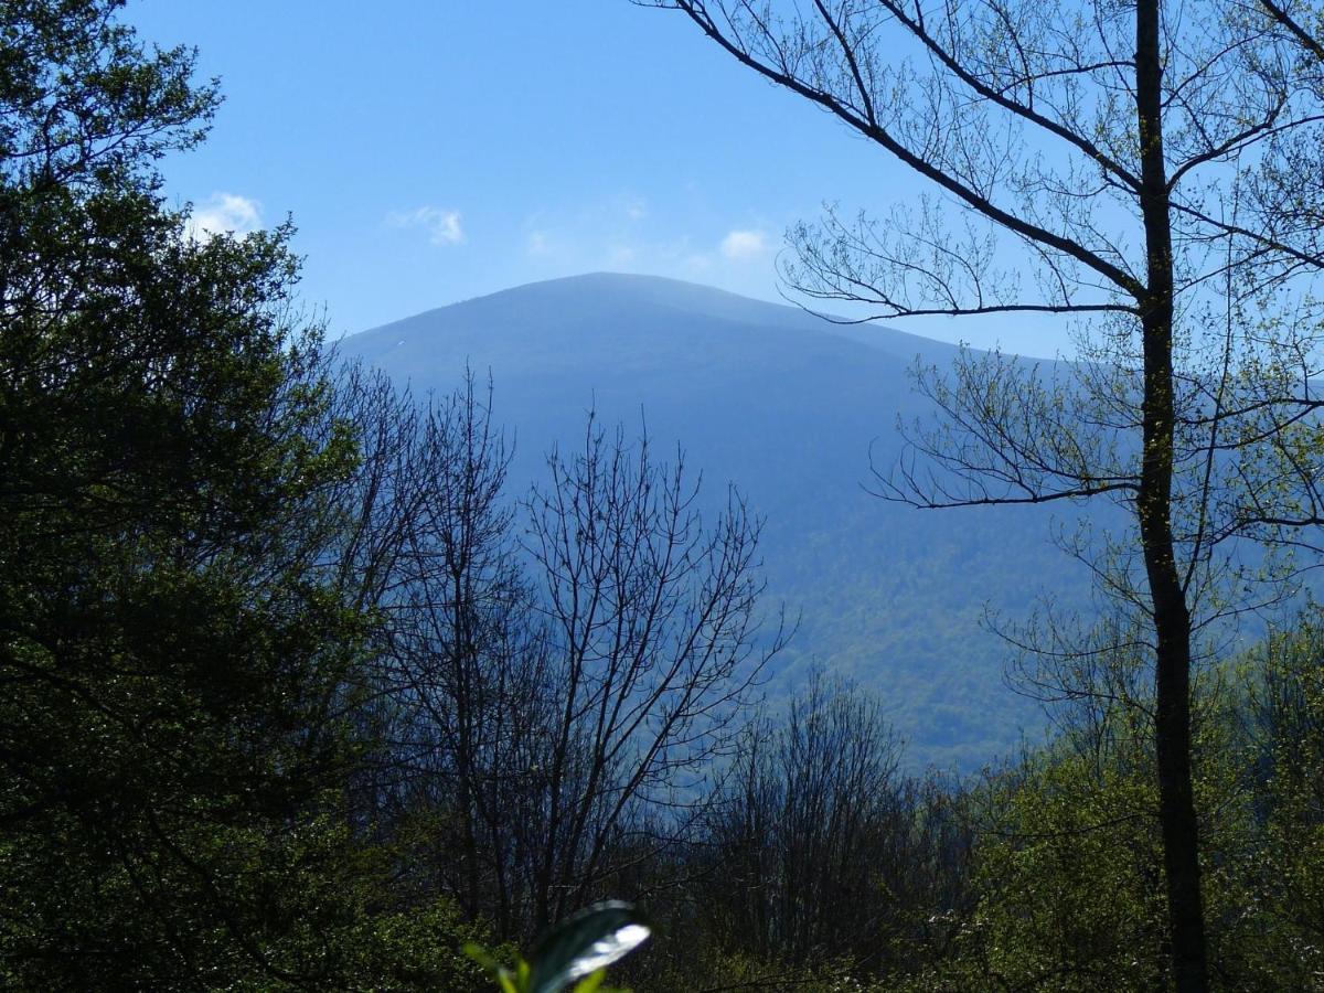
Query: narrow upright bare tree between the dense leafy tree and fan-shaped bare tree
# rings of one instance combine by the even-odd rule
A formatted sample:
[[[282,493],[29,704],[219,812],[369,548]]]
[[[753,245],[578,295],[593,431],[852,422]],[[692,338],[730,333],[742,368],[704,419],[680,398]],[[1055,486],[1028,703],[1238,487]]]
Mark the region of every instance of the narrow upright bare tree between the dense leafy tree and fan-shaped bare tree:
[[[528,903],[516,825],[555,696],[519,561],[510,453],[491,387],[473,373],[416,401],[383,373],[346,369],[338,424],[361,453],[342,498],[343,596],[379,618],[360,719],[365,825],[412,853],[406,878],[502,933]]]

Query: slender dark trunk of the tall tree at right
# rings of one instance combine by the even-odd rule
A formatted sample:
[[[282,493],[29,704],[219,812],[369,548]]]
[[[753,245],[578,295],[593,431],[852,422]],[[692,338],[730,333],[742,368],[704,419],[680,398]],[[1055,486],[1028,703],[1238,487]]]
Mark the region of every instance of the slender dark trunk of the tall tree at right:
[[[1144,336],[1144,454],[1136,508],[1156,636],[1158,820],[1168,882],[1168,927],[1178,993],[1207,989],[1205,912],[1190,777],[1190,612],[1172,534],[1173,267],[1172,218],[1162,147],[1160,0],[1136,7],[1136,110],[1141,213],[1148,265],[1141,303]]]

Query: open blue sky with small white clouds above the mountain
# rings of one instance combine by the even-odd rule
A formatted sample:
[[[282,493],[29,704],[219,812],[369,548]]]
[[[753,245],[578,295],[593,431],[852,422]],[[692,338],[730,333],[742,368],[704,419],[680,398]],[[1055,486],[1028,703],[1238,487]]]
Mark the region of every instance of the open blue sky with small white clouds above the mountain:
[[[508,286],[654,273],[777,299],[785,228],[918,187],[876,148],[628,0],[131,0],[225,105],[166,163],[204,226],[294,217],[332,334]],[[906,326],[1053,354],[1010,322]]]

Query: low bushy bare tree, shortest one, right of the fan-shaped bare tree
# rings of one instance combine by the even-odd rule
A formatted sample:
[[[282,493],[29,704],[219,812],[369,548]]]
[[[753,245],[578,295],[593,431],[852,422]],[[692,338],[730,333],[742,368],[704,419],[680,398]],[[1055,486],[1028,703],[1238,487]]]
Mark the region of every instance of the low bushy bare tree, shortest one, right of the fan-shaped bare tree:
[[[879,700],[821,671],[784,719],[752,724],[706,818],[710,925],[772,968],[912,967],[963,908],[968,838],[955,797],[900,759]]]

